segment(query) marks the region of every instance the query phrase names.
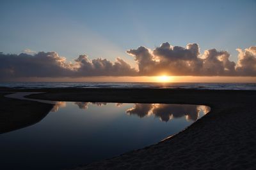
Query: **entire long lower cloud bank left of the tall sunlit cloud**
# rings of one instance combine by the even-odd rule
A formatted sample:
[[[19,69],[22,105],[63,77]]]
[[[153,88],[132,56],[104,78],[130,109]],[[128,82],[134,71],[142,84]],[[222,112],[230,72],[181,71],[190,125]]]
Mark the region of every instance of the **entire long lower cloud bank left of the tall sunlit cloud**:
[[[67,62],[56,52],[4,54],[0,53],[0,78],[19,77],[83,77],[83,76],[134,76],[137,72],[127,62],[116,59],[90,60],[80,55]]]

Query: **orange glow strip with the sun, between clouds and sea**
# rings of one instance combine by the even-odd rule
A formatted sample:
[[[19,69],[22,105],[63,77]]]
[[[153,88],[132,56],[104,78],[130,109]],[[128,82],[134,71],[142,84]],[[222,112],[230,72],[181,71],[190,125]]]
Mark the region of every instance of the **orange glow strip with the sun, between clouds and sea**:
[[[145,83],[256,83],[253,76],[91,76],[83,78],[16,78],[9,81],[145,82]]]

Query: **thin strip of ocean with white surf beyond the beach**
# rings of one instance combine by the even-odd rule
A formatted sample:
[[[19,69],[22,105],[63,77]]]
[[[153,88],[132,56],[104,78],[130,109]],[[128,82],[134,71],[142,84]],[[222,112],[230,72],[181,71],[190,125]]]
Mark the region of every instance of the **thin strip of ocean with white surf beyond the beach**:
[[[256,83],[0,82],[0,87],[256,90]]]

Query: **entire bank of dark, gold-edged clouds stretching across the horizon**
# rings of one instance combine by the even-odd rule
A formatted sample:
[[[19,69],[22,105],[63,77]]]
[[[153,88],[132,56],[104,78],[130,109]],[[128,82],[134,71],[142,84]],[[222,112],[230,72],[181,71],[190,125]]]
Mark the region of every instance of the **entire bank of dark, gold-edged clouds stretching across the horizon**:
[[[239,52],[237,64],[229,60],[227,51],[205,50],[200,54],[198,44],[171,46],[163,43],[150,50],[145,46],[127,50],[134,56],[139,70],[124,60],[90,60],[79,55],[67,62],[56,52],[38,52],[35,55],[0,53],[0,78],[19,77],[83,77],[83,76],[256,76],[256,46]]]

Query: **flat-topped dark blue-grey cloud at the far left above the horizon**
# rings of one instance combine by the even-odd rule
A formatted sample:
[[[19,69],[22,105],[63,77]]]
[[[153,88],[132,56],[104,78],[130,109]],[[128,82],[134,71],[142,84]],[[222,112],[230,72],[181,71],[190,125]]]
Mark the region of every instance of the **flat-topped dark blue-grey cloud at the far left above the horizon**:
[[[72,76],[72,67],[56,52],[0,54],[1,78]]]

